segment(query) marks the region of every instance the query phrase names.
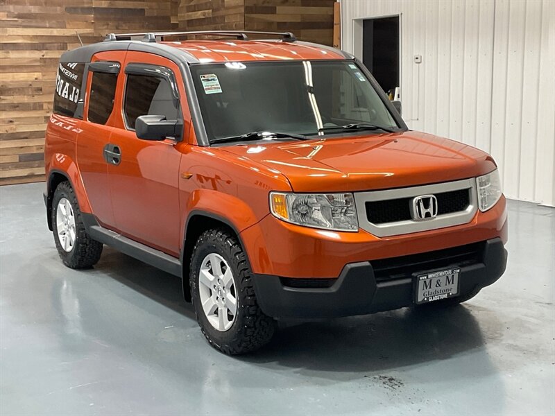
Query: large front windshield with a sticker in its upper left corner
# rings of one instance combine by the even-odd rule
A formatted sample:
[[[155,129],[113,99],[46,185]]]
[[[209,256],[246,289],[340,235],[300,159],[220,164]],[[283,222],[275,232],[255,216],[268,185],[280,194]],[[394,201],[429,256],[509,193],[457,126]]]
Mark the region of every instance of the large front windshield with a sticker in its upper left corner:
[[[255,131],[317,135],[353,123],[398,128],[352,61],[198,64],[191,72],[210,140]]]

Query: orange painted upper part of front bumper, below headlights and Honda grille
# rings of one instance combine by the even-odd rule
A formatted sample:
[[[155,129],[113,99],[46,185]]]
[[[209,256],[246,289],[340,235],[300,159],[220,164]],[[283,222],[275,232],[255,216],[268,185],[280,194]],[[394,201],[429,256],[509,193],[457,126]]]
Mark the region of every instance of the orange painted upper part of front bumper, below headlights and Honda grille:
[[[499,237],[507,241],[504,196],[469,223],[378,237],[364,229],[334,232],[286,223],[268,214],[240,233],[250,267],[259,275],[337,278],[345,264],[428,253]]]

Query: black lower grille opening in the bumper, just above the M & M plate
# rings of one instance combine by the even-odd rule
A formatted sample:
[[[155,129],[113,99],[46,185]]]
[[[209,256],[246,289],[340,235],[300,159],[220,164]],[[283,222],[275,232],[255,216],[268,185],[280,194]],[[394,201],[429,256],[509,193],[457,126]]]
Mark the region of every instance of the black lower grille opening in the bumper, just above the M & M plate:
[[[374,269],[376,281],[404,279],[411,277],[413,273],[425,270],[450,268],[452,266],[463,267],[481,263],[484,244],[484,241],[482,241],[433,252],[372,260],[370,264]]]

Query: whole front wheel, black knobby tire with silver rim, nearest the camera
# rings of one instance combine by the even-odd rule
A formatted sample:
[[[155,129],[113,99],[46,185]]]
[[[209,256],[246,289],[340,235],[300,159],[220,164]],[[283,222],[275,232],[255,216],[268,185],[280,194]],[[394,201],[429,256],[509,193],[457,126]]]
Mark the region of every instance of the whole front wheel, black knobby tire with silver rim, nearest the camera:
[[[200,235],[191,256],[191,299],[196,320],[212,347],[246,354],[268,343],[275,329],[256,300],[245,252],[223,229]]]

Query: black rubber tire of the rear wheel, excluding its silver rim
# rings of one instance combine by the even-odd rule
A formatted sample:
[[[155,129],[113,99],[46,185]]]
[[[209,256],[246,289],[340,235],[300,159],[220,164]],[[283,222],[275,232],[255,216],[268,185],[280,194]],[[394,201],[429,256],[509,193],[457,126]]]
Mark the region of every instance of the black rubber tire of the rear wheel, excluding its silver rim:
[[[75,243],[71,251],[67,252],[62,248],[60,239],[58,237],[58,229],[56,226],[56,211],[58,209],[58,202],[62,198],[66,198],[71,204],[71,209],[74,211],[75,218]],[[69,182],[61,182],[58,184],[54,196],[52,198],[51,209],[52,228],[54,234],[54,242],[60,254],[60,259],[69,268],[80,269],[89,268],[94,266],[100,259],[102,254],[102,243],[91,239],[85,225],[83,224],[83,217],[79,209],[77,197]]]

